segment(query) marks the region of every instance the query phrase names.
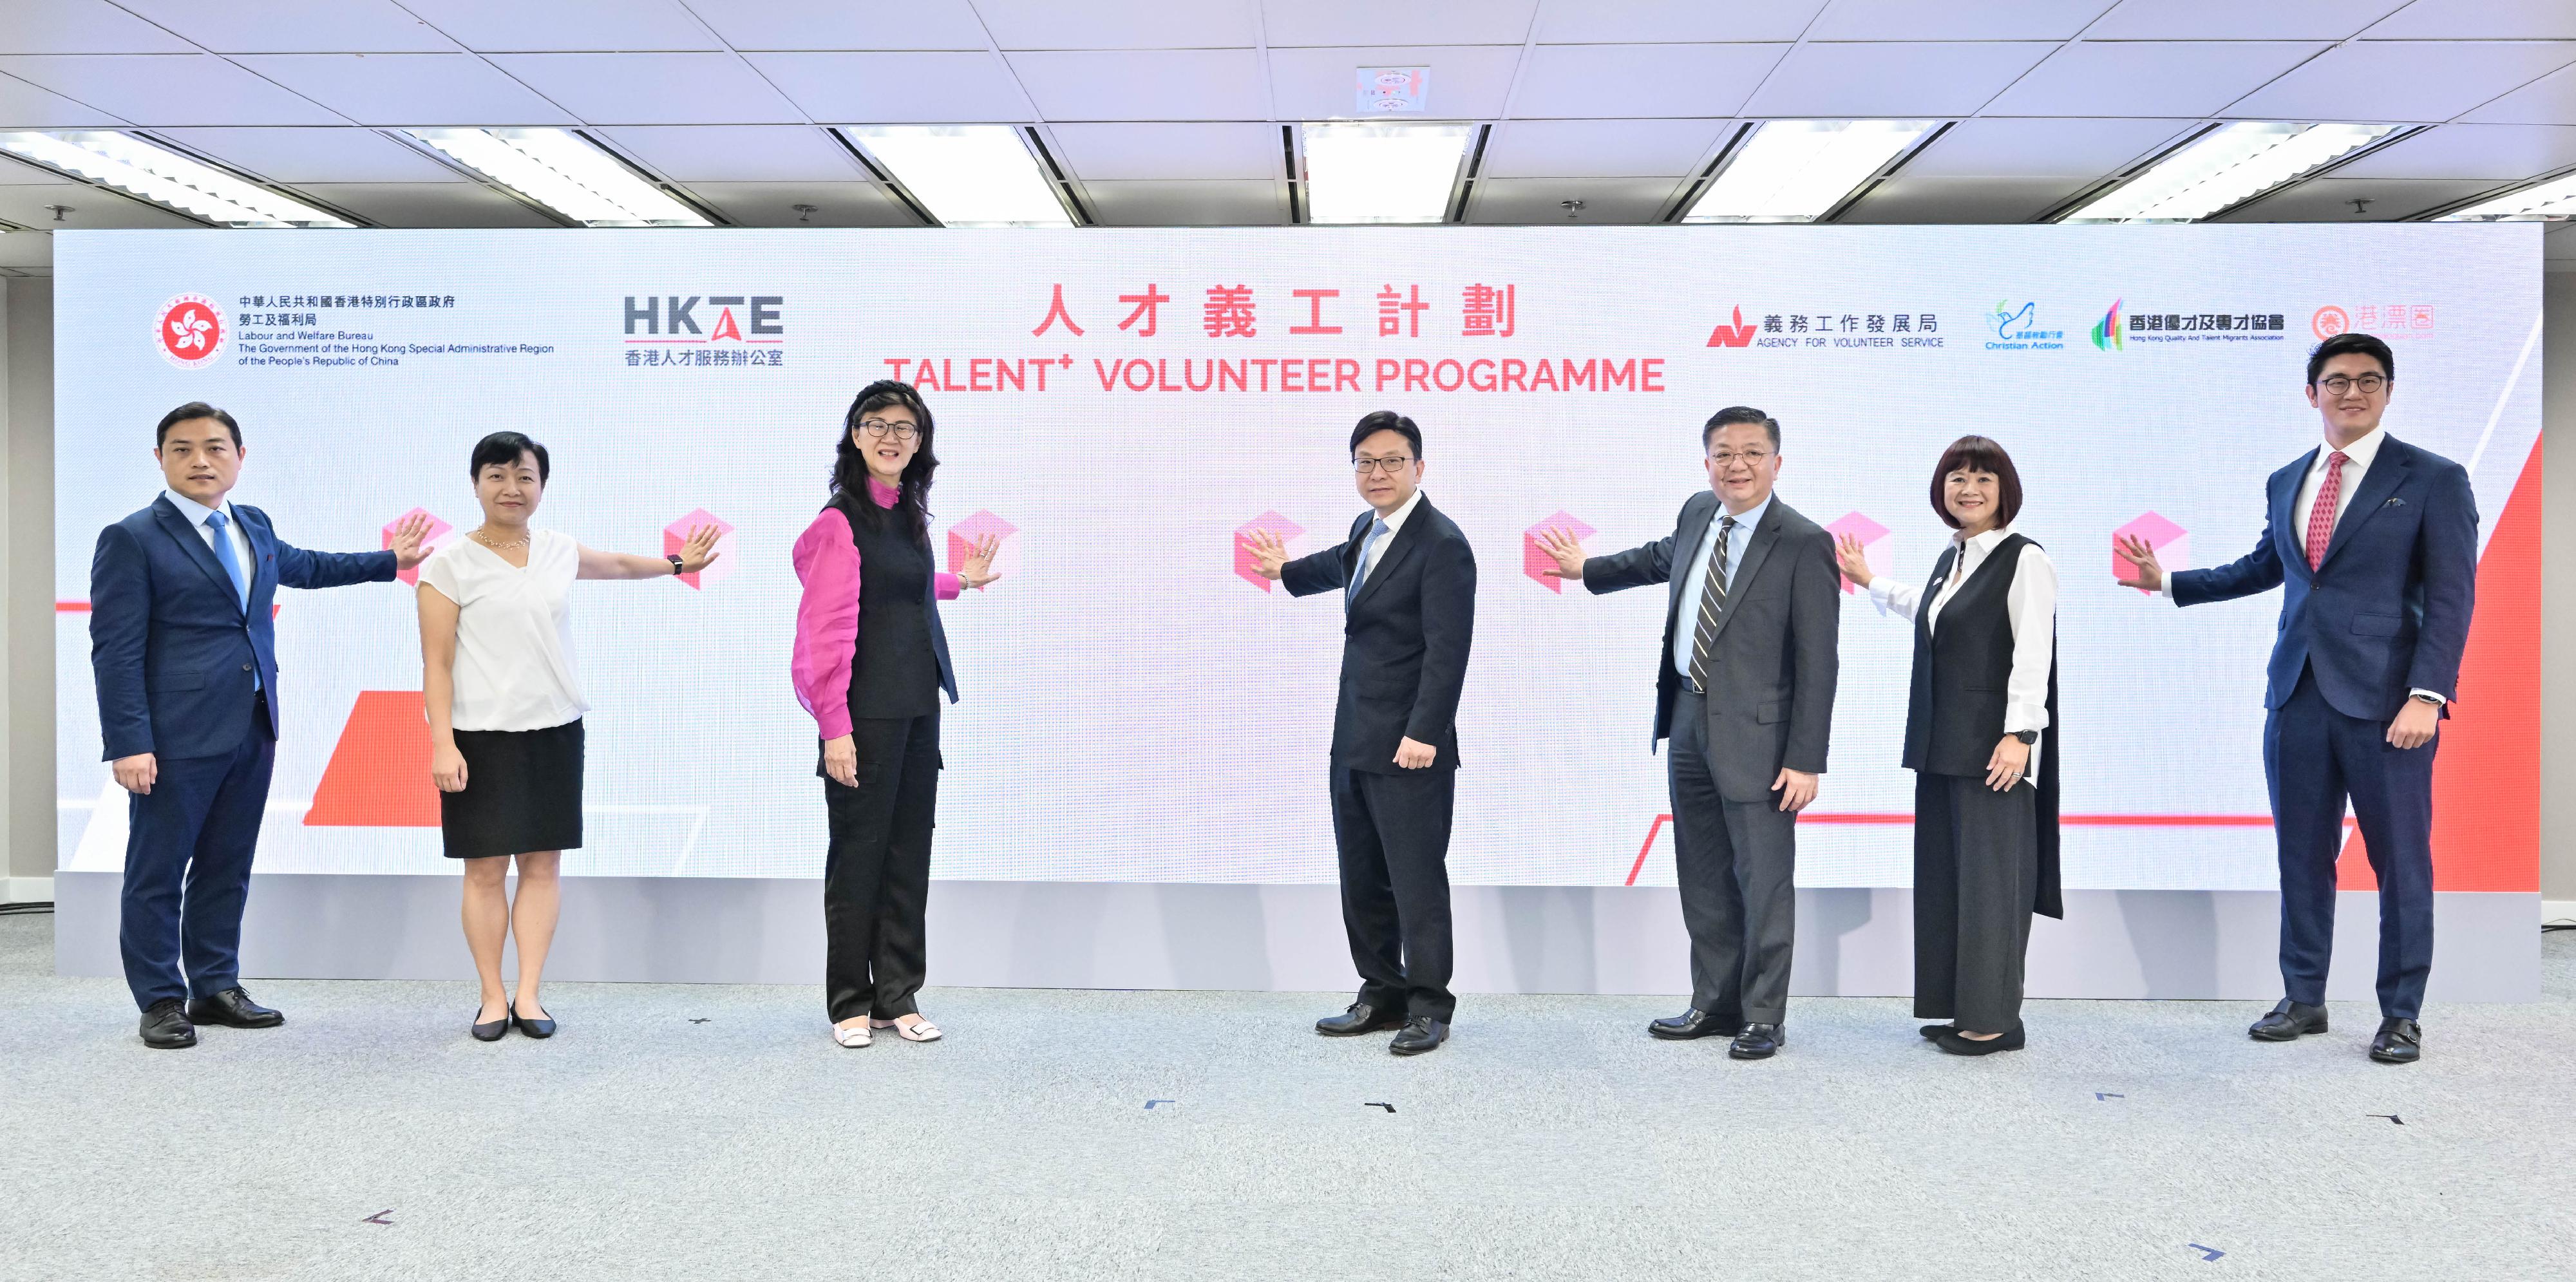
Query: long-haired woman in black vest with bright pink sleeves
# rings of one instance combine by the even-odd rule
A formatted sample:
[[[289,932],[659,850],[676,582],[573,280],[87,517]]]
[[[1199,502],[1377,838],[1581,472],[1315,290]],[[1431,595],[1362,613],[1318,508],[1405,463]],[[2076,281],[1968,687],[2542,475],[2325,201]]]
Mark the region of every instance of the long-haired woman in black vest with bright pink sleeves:
[[[832,1040],[891,1027],[933,1043],[922,1019],[922,909],[940,801],[940,692],[958,698],[940,600],[997,579],[999,538],[956,574],[930,559],[930,407],[909,384],[868,384],[840,430],[832,502],[796,538],[796,698],[822,741],[832,850],[822,865],[824,1004]]]

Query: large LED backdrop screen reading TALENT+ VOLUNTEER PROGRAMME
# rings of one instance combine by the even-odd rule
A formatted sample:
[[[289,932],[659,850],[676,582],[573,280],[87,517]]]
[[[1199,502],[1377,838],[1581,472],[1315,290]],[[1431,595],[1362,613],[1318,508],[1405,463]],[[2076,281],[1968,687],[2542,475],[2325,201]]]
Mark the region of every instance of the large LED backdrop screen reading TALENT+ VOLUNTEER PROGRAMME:
[[[1649,749],[1662,592],[1538,577],[1672,530],[1700,422],[1785,430],[1780,499],[1922,582],[1942,445],[2002,440],[2056,556],[2071,888],[2275,886],[2262,669],[2277,597],[2174,610],[2112,582],[2244,556],[2308,451],[2306,350],[2398,355],[2388,425],[2465,463],[2478,623],[2439,747],[2437,883],[2537,886],[2540,263],[2532,227],[1636,227],[1236,232],[67,232],[57,250],[62,855],[121,868],[98,759],[88,566],[160,489],[152,425],[240,417],[240,502],[307,548],[412,510],[461,538],[466,451],[551,448],[538,523],[696,582],[585,582],[590,847],[567,870],[814,878],[814,723],[788,682],[788,548],[850,396],[938,414],[933,538],[1002,535],[945,605],[940,878],[1334,878],[1340,597],[1291,600],[1236,535],[1340,541],[1347,432],[1425,432],[1425,492],[1476,543],[1458,713],[1458,883],[1672,883]],[[278,595],[283,744],[265,873],[451,873],[412,584]],[[1906,886],[1909,628],[1842,608],[1832,772],[1803,886]],[[2354,860],[2347,860],[2352,868]],[[2357,870],[2347,886],[2367,886]]]

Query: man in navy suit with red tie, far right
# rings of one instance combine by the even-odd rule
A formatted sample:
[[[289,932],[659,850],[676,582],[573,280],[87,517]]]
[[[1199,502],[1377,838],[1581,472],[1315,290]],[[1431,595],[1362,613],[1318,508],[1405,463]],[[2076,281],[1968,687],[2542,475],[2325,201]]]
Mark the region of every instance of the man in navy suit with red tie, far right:
[[[2380,430],[2396,355],[2334,335],[2308,355],[2308,404],[2326,443],[2272,474],[2254,551],[2166,574],[2120,538],[2128,587],[2174,605],[2282,587],[2264,705],[2264,775],[2280,842],[2280,978],[2287,996],[2249,1030],[2290,1043],[2326,1032],[2334,862],[2344,803],[2380,878],[2380,1030],[2370,1058],[2414,1063],[2432,971],[2432,754],[2460,680],[2478,584],[2478,497],[2468,469]]]

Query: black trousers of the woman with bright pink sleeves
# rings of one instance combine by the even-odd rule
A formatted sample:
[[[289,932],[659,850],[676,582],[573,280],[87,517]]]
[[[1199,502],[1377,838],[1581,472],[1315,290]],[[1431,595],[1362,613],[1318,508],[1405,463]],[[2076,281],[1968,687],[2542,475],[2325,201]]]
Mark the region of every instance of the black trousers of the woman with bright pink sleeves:
[[[822,780],[822,986],[832,1022],[914,1014],[927,942],[930,829],[940,808],[940,713],[855,718],[858,788]]]

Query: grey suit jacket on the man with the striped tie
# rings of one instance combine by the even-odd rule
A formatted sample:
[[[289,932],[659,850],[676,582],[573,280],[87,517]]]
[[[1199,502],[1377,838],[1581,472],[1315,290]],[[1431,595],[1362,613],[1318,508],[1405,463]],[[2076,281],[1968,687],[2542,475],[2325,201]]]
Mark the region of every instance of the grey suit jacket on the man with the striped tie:
[[[1672,700],[1682,677],[1672,669],[1674,615],[1690,559],[1718,517],[1718,497],[1698,492],[1682,505],[1672,535],[1613,556],[1584,561],[1584,587],[1669,584],[1664,638],[1654,649],[1654,739],[1672,734]],[[1708,672],[1708,749],[1726,801],[1762,801],[1780,770],[1824,775],[1834,734],[1834,651],[1842,628],[1842,579],[1834,535],[1772,497],[1744,548],[1736,579],[1726,584],[1726,610]]]

